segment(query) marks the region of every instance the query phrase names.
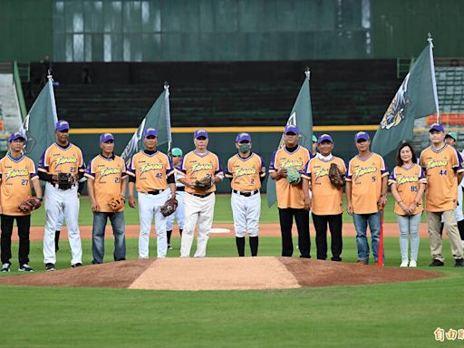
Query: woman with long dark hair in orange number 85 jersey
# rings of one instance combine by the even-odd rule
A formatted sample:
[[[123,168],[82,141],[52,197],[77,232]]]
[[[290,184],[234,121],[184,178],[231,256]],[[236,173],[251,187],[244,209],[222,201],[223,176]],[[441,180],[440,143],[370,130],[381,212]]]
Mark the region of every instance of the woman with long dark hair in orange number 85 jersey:
[[[391,171],[389,183],[395,198],[395,214],[400,225],[401,267],[416,267],[419,252],[419,226],[422,216],[422,195],[427,179],[417,164],[416,155],[409,143],[398,149],[397,166]],[[411,238],[411,261],[408,258]]]

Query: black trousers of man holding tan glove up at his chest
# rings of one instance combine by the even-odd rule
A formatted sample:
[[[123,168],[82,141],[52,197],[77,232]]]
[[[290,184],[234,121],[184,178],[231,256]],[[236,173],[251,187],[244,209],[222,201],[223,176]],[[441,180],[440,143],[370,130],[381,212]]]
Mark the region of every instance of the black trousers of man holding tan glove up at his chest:
[[[292,256],[294,243],[292,241],[292,225],[296,222],[298,230],[298,248],[300,257],[311,257],[311,240],[309,239],[309,211],[295,208],[279,208],[280,233],[282,235],[282,256]]]

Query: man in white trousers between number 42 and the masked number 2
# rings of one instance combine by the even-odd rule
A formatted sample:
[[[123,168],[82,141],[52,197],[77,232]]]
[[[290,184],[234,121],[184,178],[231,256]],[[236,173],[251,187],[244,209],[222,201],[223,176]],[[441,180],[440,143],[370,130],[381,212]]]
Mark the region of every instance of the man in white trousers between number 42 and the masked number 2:
[[[197,251],[195,257],[207,254],[209,229],[213,224],[214,204],[216,200],[215,183],[224,179],[218,156],[208,151],[208,131],[198,130],[193,134],[195,150],[184,156],[180,163],[180,173],[184,176],[180,182],[185,185],[184,230],[180,245],[180,257],[189,257],[193,242],[193,233],[198,223]],[[209,189],[198,189],[197,180],[210,176]]]

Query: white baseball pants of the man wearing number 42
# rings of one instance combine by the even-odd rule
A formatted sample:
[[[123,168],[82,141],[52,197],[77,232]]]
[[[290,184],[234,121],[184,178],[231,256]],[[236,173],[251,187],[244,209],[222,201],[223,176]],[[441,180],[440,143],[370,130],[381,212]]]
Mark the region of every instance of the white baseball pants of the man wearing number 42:
[[[155,218],[157,239],[157,257],[166,257],[168,237],[166,236],[167,218],[161,214],[161,206],[168,200],[170,189],[165,189],[158,195],[138,193],[139,196],[139,258],[149,257],[151,221]]]

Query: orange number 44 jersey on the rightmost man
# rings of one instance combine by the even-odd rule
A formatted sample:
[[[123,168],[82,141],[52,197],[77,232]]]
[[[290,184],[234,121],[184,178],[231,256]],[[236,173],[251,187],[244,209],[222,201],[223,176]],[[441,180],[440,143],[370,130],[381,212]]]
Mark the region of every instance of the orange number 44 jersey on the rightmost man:
[[[429,147],[420,153],[420,166],[427,176],[427,211],[453,210],[458,201],[458,175],[464,171],[459,152],[449,145],[440,150]]]

